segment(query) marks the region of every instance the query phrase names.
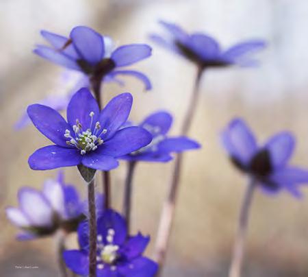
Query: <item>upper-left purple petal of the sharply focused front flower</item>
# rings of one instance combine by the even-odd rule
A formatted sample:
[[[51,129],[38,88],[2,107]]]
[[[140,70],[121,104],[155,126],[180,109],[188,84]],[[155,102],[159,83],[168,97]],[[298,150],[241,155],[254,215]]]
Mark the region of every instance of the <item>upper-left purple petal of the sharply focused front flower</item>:
[[[34,126],[56,145],[68,147],[64,137],[65,130],[71,130],[59,112],[40,104],[30,105],[27,113]],[[73,131],[71,131],[73,132]]]

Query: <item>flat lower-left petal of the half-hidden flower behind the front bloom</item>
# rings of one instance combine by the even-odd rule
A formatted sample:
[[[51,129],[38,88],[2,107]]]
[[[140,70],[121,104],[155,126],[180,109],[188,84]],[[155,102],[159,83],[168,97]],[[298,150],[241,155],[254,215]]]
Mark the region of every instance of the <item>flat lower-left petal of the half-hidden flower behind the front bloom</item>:
[[[121,160],[140,162],[169,162],[173,159],[170,154],[156,152],[144,152],[140,154],[128,154],[120,157]]]

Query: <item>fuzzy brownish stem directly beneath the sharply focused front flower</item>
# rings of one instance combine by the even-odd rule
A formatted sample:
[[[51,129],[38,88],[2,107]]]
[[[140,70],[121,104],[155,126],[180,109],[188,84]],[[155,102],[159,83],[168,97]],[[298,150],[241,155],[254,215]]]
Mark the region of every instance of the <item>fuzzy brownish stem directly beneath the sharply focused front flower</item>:
[[[88,184],[89,204],[89,277],[97,276],[97,219],[95,209],[94,178]]]

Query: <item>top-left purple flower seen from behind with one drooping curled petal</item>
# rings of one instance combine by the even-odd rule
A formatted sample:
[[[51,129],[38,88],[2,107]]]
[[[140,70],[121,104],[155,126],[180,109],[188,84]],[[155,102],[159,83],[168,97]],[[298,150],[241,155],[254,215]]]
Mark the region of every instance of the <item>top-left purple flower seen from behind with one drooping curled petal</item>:
[[[34,49],[38,56],[90,77],[99,75],[116,80],[118,75],[132,75],[144,82],[146,90],[151,89],[151,82],[146,75],[121,69],[151,56],[149,45],[123,45],[113,50],[114,43],[109,37],[101,36],[85,26],[74,27],[69,38],[47,31],[41,34],[50,46],[38,45]]]

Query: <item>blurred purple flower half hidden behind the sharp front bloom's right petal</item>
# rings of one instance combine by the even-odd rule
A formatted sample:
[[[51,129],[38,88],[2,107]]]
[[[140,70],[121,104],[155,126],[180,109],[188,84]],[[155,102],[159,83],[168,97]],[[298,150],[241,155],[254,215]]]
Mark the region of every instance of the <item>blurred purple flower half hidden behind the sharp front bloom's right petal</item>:
[[[132,124],[132,123],[130,123]],[[153,140],[149,145],[121,157],[129,161],[168,162],[172,160],[172,152],[183,152],[198,149],[200,145],[185,136],[168,137],[167,133],[172,125],[172,116],[168,112],[155,112],[139,125],[149,131]]]

